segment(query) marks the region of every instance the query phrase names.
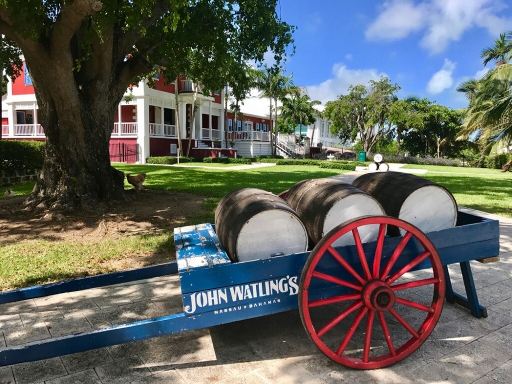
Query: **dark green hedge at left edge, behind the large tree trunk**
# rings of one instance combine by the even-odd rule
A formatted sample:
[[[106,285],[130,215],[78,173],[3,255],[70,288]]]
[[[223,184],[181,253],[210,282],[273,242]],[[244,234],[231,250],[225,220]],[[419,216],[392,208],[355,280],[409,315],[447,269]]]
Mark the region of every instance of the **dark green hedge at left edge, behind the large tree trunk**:
[[[33,173],[42,169],[44,141],[0,140],[0,169]]]

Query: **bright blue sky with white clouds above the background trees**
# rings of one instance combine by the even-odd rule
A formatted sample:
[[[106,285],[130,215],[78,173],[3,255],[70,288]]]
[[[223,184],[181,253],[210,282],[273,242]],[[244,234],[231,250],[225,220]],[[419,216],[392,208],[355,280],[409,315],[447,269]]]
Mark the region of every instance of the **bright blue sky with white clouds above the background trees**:
[[[286,73],[323,103],[386,75],[399,97],[463,108],[456,87],[485,73],[481,51],[512,30],[510,0],[280,0],[277,11],[298,27]]]

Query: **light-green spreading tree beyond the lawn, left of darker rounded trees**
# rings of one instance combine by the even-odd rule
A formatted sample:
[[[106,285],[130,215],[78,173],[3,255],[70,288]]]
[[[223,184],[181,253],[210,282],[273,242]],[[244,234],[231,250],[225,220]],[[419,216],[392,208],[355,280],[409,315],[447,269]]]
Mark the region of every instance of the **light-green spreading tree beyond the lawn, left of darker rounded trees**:
[[[363,149],[371,152],[393,129],[391,106],[399,90],[398,84],[392,84],[385,76],[378,81],[370,80],[368,86],[350,86],[347,95],[326,103],[324,113],[332,121],[331,132],[342,141],[353,141],[359,136]]]

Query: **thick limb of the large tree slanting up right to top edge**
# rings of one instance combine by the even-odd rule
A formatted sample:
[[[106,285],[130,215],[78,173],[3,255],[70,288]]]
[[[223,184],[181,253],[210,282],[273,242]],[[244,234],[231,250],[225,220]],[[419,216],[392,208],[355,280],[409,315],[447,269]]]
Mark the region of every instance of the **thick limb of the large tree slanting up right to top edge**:
[[[60,53],[66,50],[83,19],[98,12],[102,7],[103,4],[99,0],[74,0],[64,3],[53,28],[50,52]]]

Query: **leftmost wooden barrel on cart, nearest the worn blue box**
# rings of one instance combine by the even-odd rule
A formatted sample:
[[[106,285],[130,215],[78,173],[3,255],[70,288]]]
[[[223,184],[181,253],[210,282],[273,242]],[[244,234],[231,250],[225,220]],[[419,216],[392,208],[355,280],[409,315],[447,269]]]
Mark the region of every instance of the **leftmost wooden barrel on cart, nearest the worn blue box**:
[[[215,210],[215,231],[232,261],[308,249],[308,234],[296,212],[280,197],[258,188],[224,196]]]

